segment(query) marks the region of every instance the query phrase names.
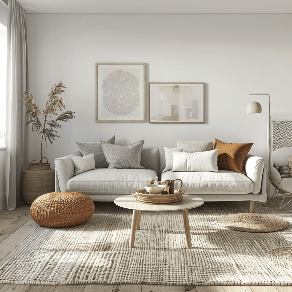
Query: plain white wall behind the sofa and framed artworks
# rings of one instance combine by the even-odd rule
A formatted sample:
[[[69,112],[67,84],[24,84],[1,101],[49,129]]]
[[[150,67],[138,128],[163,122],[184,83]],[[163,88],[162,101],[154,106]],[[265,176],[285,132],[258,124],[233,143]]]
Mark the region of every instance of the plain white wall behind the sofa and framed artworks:
[[[175,147],[177,140],[253,142],[267,162],[265,95],[262,114],[246,114],[249,93],[269,93],[271,113],[291,113],[291,14],[28,14],[29,93],[41,111],[51,86],[76,119],[63,124],[43,156],[78,151],[77,142],[116,135],[116,144],[145,139],[144,147]],[[146,62],[146,123],[95,122],[95,62]],[[149,124],[148,82],[205,82],[204,124]],[[33,139],[33,140],[32,140]],[[41,135],[31,135],[31,159]],[[53,168],[53,167],[52,167]]]

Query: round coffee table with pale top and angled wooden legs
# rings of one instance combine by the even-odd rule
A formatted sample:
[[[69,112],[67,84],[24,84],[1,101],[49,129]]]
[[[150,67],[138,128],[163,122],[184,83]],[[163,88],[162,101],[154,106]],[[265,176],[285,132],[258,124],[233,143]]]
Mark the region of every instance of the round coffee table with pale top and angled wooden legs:
[[[140,230],[141,211],[152,212],[183,211],[183,222],[185,225],[185,237],[187,239],[187,247],[192,248],[189,215],[187,210],[197,208],[203,205],[204,204],[203,199],[195,195],[184,195],[183,201],[173,205],[148,205],[139,203],[132,195],[126,195],[115,199],[114,203],[120,207],[133,210],[129,242],[130,248],[134,247],[136,230]]]

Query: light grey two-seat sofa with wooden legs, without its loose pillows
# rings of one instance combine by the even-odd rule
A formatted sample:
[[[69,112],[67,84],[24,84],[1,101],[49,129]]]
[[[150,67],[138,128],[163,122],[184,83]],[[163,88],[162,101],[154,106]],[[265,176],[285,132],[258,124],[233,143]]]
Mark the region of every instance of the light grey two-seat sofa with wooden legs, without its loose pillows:
[[[250,154],[244,161],[246,175],[224,170],[162,173],[166,166],[164,148],[148,147],[141,152],[140,164],[145,169],[97,168],[74,176],[71,157],[76,155],[82,156],[82,153],[55,159],[56,192],[80,192],[93,201],[114,201],[121,195],[143,189],[148,180],[158,176],[159,180],[180,178],[187,194],[196,194],[205,201],[251,201],[251,212],[254,201],[267,199],[264,161]]]

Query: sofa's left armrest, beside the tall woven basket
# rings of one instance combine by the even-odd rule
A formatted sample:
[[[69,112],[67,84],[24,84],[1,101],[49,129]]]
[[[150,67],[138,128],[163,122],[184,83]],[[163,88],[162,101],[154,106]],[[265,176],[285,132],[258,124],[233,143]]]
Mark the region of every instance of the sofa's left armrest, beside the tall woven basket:
[[[61,192],[68,192],[67,182],[74,176],[74,164],[71,159],[72,156],[82,156],[82,153],[78,151],[73,154],[55,159],[55,166],[59,181],[58,184],[56,183],[56,189],[59,187]]]

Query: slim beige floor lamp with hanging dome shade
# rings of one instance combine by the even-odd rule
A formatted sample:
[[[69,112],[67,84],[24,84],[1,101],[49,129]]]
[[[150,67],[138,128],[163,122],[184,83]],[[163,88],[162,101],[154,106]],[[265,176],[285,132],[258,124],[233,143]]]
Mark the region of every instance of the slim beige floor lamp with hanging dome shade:
[[[254,101],[255,95],[268,95],[267,93],[250,93],[250,95],[253,95],[253,101],[250,102],[247,107],[246,107],[246,112],[248,114],[259,114],[262,112],[262,106],[260,105],[259,102]],[[268,188],[268,196],[267,196],[267,203],[263,203],[264,207],[270,207],[270,208],[275,208],[278,207],[278,204],[275,202],[270,202],[271,198],[271,181],[270,181],[270,173],[271,173],[271,143],[270,143],[270,95],[269,96],[269,116],[268,116],[268,131],[267,131],[267,137],[268,137],[268,157],[269,157],[269,172],[268,172],[268,180],[269,180],[269,188]],[[264,187],[264,186],[263,186]]]

